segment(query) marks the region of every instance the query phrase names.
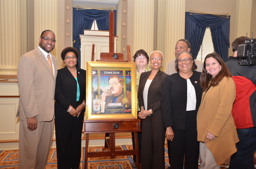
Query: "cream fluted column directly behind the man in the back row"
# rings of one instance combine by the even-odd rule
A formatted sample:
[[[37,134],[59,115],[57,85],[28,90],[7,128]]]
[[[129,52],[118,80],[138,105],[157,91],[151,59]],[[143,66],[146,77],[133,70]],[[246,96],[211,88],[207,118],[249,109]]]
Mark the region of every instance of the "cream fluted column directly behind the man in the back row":
[[[175,45],[185,37],[185,0],[166,0],[164,69],[175,58]]]

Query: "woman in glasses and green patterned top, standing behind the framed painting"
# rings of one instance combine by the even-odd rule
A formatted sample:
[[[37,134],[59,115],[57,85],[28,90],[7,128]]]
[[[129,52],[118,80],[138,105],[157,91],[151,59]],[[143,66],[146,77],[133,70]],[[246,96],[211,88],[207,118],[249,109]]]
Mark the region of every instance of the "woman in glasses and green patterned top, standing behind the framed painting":
[[[143,49],[137,50],[137,52],[133,56],[133,62],[136,62],[137,93],[139,89],[139,80],[140,80],[141,73],[151,70],[151,67],[148,66],[148,61],[149,61],[148,54]],[[138,98],[137,98],[137,111],[138,111],[137,113],[139,114],[140,108],[139,108]],[[142,128],[142,123],[141,123],[141,128]],[[141,163],[141,137],[142,137],[142,133],[138,132],[140,163]],[[132,140],[133,140],[133,147],[135,147],[135,137],[133,132],[132,132]],[[132,166],[137,167],[136,155],[133,156],[133,161],[134,163],[132,164]]]

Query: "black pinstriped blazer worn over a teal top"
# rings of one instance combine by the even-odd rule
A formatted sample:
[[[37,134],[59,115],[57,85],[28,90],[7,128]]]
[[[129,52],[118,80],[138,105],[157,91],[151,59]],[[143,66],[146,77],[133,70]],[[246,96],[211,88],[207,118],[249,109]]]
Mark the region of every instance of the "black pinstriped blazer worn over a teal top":
[[[77,102],[77,81],[80,88],[80,98]],[[86,100],[86,71],[77,68],[77,81],[68,70],[67,66],[58,70],[55,87],[55,114],[69,116],[69,105],[75,109]],[[85,109],[84,109],[85,110]],[[83,110],[83,111],[84,111]],[[71,116],[71,115],[70,115]]]

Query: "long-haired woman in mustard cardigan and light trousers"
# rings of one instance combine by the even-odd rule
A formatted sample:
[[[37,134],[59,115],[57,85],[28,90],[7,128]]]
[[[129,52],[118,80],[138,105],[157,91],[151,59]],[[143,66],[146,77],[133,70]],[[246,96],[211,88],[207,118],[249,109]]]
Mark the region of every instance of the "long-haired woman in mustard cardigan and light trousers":
[[[216,53],[205,57],[200,78],[203,88],[197,113],[197,141],[200,141],[200,169],[219,169],[236,152],[239,141],[232,106],[236,86],[231,73]]]

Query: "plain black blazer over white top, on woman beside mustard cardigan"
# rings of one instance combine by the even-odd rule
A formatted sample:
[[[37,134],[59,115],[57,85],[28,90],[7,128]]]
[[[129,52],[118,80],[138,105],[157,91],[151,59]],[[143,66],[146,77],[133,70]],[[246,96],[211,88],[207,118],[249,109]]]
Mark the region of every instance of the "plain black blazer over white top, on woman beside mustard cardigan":
[[[189,78],[195,88],[197,99],[195,118],[191,119],[195,121],[195,127],[197,111],[203,93],[200,86],[200,76],[201,72],[193,71],[193,75]],[[187,80],[183,79],[179,73],[174,73],[165,79],[161,94],[164,127],[167,128],[172,126],[177,130],[185,131],[186,107]]]

